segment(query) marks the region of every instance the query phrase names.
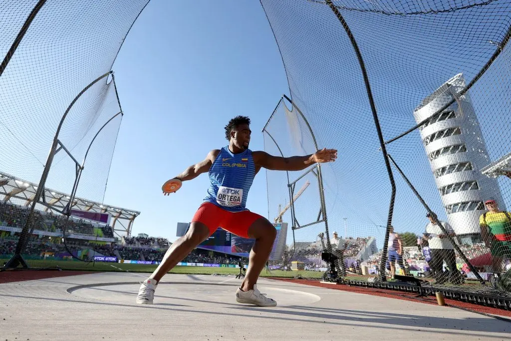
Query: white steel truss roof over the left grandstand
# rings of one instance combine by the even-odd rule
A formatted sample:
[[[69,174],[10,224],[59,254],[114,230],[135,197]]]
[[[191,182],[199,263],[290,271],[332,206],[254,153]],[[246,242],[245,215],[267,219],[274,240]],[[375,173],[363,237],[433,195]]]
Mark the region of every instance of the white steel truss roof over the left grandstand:
[[[32,202],[37,191],[37,184],[30,181],[16,178],[15,176],[0,172],[0,200],[4,202],[11,202],[15,204],[28,207]],[[42,195],[43,202],[39,202],[36,206],[37,210],[44,212],[52,212],[62,214],[64,208],[67,206],[69,194],[59,191],[54,191],[49,188],[44,189]],[[15,201],[13,201],[15,199]],[[103,204],[101,202],[91,201],[75,197],[71,204],[71,209],[94,212],[94,213],[108,213],[113,218],[111,227],[114,234],[119,237],[122,235],[131,236],[131,227],[135,218],[140,215],[140,212],[114,207],[111,205]],[[118,233],[120,232],[120,233]]]

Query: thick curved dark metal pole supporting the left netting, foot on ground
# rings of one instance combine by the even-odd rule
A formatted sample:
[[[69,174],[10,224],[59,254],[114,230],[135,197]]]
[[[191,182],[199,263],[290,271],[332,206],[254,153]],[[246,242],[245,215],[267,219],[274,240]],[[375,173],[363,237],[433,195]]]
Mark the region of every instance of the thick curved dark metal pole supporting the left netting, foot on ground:
[[[110,74],[112,74],[112,71],[109,71],[109,72],[105,73],[104,75],[96,78],[94,81],[90,82],[87,86],[85,86],[81,90],[81,92],[73,99],[71,104],[69,104],[69,106],[65,110],[64,114],[62,115],[62,118],[60,119],[60,123],[59,123],[59,125],[57,127],[57,131],[55,132],[55,136],[53,138],[53,143],[52,143],[52,146],[50,148],[50,153],[48,154],[48,159],[46,161],[46,164],[45,164],[44,169],[42,171],[41,178],[39,180],[39,185],[37,186],[37,191],[36,191],[36,193],[34,195],[34,198],[32,199],[32,206],[30,207],[30,211],[29,211],[29,214],[27,216],[27,220],[25,222],[25,226],[21,230],[21,235],[20,235],[18,243],[16,245],[16,250],[14,252],[14,256],[5,264],[6,268],[16,268],[16,267],[18,267],[18,265],[21,265],[24,268],[28,268],[27,263],[25,262],[25,260],[21,256],[21,252],[25,249],[25,246],[26,246],[26,244],[27,244],[27,242],[29,240],[29,237],[30,237],[29,232],[31,232],[33,230],[33,228],[34,228],[33,220],[34,220],[34,215],[35,215],[36,204],[38,204],[38,203],[44,204],[45,203],[44,198],[43,198],[43,202],[40,202],[39,200],[41,199],[41,197],[44,194],[44,186],[45,186],[46,180],[48,178],[48,174],[50,173],[50,168],[52,166],[53,158],[54,158],[55,154],[58,151],[60,151],[61,149],[64,149],[67,153],[69,153],[69,151],[67,149],[65,149],[65,147],[58,140],[60,129],[62,128],[64,120],[67,117],[67,114],[69,113],[69,111],[71,110],[73,105],[76,103],[76,101],[78,101],[78,99],[92,85],[96,84],[97,82],[99,82],[100,80],[102,80],[103,78],[107,77]],[[90,148],[90,145],[89,145],[89,148]],[[87,149],[87,152],[88,152],[88,149]],[[75,161],[75,163],[77,163],[77,161],[76,161],[76,159],[74,157],[73,157],[73,160]],[[77,185],[77,181],[76,180],[75,180],[75,185]],[[69,200],[69,202],[72,202],[72,201],[73,200]]]

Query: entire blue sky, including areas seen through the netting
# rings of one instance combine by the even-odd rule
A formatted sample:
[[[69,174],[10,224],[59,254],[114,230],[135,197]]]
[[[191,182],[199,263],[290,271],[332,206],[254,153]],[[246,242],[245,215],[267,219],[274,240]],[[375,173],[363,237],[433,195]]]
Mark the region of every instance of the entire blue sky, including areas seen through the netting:
[[[390,186],[351,43],[337,17],[324,4],[306,0],[263,2],[281,39],[293,100],[311,123],[318,147],[339,149],[338,161],[322,168],[330,232],[343,231],[346,217],[349,235],[376,236],[381,243],[384,229],[378,225],[386,223]],[[31,10],[27,4],[7,8],[10,10],[7,16],[17,18],[11,21],[18,24]],[[50,15],[58,8],[54,2],[44,7]],[[138,8],[128,9],[128,14],[119,15],[138,12]],[[67,98],[76,96],[85,80],[95,79],[97,69],[109,70],[110,65],[104,64],[109,57],[96,53],[96,49],[101,49],[101,44],[109,47],[115,44],[120,34],[115,32],[125,30],[118,24],[127,21],[119,18],[103,22],[103,16],[97,15],[97,11],[104,10],[82,6],[75,13],[76,18],[68,20],[68,25],[52,26],[50,40],[41,40],[39,32],[48,30],[52,20],[43,16],[32,23],[1,79],[7,86],[2,90],[0,125],[9,127],[2,130],[8,133],[0,144],[3,172],[37,183],[53,139],[52,127],[60,120],[58,113],[67,107]],[[508,27],[508,18],[498,3],[419,16],[345,12],[344,18],[364,56],[385,139],[415,125],[414,108],[446,80],[461,72],[470,81],[494,53],[496,46],[490,41],[501,41]],[[481,15],[488,19],[481,20]],[[81,20],[87,20],[87,26]],[[100,22],[103,25],[98,25]],[[7,27],[2,47],[10,46],[18,30],[12,23]],[[466,27],[476,30],[468,32]],[[94,40],[96,36],[102,38]],[[52,41],[51,49],[41,48],[49,41]],[[117,49],[101,51],[114,53]],[[502,74],[507,67],[508,53],[509,47],[470,90],[492,161],[509,152],[505,129],[508,99],[501,86],[509,83],[508,78],[503,78],[508,75]],[[81,70],[80,81],[68,82],[66,75],[74,80],[75,70]],[[208,185],[207,176],[203,174],[185,183],[170,197],[162,195],[161,184],[201,161],[211,149],[226,145],[223,127],[234,116],[251,117],[250,148],[264,148],[261,129],[278,99],[289,91],[281,55],[258,1],[152,0],[129,32],[113,71],[125,116],[104,202],[142,212],[135,220],[133,234],[144,232],[173,241],[176,223],[190,221],[200,205]],[[72,148],[76,156],[84,152],[80,148],[85,144],[77,145],[78,141],[85,141],[80,134],[93,133],[96,130],[91,125],[102,122],[91,115],[100,103],[102,107],[105,104],[97,99],[113,98],[100,96],[103,87],[104,84],[98,83],[95,90],[88,90],[64,122],[68,129],[59,138],[77,148]],[[113,104],[113,112],[117,112],[117,103],[113,101]],[[103,108],[105,115],[111,115]],[[281,115],[280,123],[271,126],[281,147],[291,146],[291,139],[283,133],[289,127],[287,119]],[[298,130],[308,134],[303,127]],[[303,138],[309,143],[307,152],[313,152],[310,136]],[[98,141],[96,145],[109,146],[109,143],[102,145]],[[271,144],[267,147],[277,153]],[[445,219],[419,132],[393,142],[388,151],[431,208]],[[99,156],[88,156],[90,163],[87,161],[84,171],[87,174],[90,170],[89,177],[85,176],[90,182],[82,176],[78,190],[78,196],[92,200],[103,197],[101,175],[109,166],[102,158],[109,156],[105,148],[97,152]],[[298,152],[286,151],[286,156],[295,153]],[[68,192],[74,183],[74,167],[70,158],[58,154],[47,181],[48,188]],[[92,178],[90,174],[94,172]],[[268,218],[274,218],[278,204],[285,204],[289,195],[285,173],[270,174],[270,194],[266,193],[266,174],[260,172],[247,204],[250,210],[267,216],[269,198]],[[292,175],[296,176],[291,180],[298,176]],[[398,232],[421,233],[427,222],[425,210],[395,171],[394,176],[398,194],[393,225]],[[305,182],[305,178],[302,180]],[[509,180],[499,179],[499,183],[509,207]],[[301,224],[317,219],[317,194],[311,185],[298,201],[297,219]],[[289,218],[288,211],[284,221],[289,222]],[[322,229],[322,225],[315,225],[298,230],[295,236],[298,241],[311,241]],[[288,231],[288,243],[291,241]]]

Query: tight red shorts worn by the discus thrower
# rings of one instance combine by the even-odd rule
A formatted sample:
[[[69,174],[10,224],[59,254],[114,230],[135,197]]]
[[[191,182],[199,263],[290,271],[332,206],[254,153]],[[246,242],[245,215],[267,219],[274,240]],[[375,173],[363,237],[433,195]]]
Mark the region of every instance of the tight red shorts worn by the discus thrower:
[[[229,212],[211,202],[204,202],[195,212],[192,222],[206,225],[210,229],[210,236],[222,228],[242,238],[250,238],[248,228],[260,218],[264,217],[250,211]]]

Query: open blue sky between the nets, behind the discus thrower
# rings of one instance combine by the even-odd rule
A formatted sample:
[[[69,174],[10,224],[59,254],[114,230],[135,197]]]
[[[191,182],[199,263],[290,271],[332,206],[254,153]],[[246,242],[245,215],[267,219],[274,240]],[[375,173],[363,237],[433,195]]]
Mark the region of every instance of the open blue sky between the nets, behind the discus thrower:
[[[259,2],[153,0],[138,17],[113,65],[125,113],[104,202],[141,211],[132,234],[176,239],[193,217],[207,174],[178,193],[161,185],[211,149],[227,144],[230,118],[252,120],[252,150],[283,93],[286,74]],[[247,206],[267,215],[265,172]]]

